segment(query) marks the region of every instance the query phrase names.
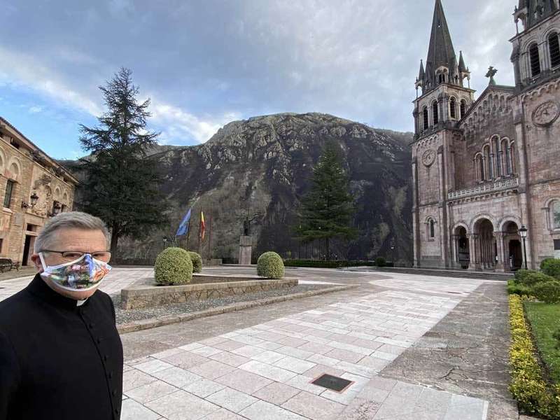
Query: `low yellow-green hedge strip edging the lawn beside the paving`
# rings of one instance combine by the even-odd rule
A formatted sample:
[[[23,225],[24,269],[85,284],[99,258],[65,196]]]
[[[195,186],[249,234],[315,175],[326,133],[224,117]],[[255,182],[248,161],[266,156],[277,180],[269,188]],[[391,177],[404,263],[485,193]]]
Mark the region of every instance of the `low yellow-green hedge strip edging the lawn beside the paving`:
[[[510,295],[510,392],[526,414],[538,414],[545,419],[560,417],[560,386],[548,387],[535,356],[531,332],[525,321],[523,302]]]

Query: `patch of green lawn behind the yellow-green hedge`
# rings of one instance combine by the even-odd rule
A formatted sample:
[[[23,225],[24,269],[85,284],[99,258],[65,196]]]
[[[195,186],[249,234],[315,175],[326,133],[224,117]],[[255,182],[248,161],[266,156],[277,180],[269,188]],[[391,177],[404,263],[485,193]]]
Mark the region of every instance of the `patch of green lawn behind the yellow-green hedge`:
[[[525,302],[525,311],[550,379],[560,384],[560,350],[556,349],[557,340],[552,337],[560,328],[560,304]]]

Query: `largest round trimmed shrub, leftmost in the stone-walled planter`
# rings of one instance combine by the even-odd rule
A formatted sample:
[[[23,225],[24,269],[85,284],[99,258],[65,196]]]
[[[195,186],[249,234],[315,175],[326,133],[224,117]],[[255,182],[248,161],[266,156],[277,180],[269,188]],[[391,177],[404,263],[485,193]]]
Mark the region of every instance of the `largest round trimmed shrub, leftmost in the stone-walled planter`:
[[[166,248],[155,258],[153,271],[160,286],[185,284],[193,279],[193,262],[183,248]]]

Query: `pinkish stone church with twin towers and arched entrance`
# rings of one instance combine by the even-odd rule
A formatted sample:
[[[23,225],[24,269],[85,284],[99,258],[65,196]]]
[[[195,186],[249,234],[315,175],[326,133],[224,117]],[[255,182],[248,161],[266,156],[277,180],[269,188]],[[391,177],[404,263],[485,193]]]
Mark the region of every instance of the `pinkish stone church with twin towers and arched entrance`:
[[[560,258],[559,0],[519,0],[515,85],[475,100],[435,1],[414,100],[414,265],[509,271]],[[465,85],[466,84],[466,85]]]

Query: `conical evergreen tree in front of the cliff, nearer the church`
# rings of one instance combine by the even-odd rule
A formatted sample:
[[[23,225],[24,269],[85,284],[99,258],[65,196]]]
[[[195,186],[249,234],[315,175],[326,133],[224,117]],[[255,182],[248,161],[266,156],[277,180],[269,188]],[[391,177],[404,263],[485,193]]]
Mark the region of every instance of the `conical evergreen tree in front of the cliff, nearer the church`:
[[[330,260],[331,239],[353,239],[358,232],[351,227],[354,197],[349,193],[346,176],[335,144],[325,147],[313,168],[311,188],[302,200],[300,223],[295,229],[303,242],[324,240]]]

